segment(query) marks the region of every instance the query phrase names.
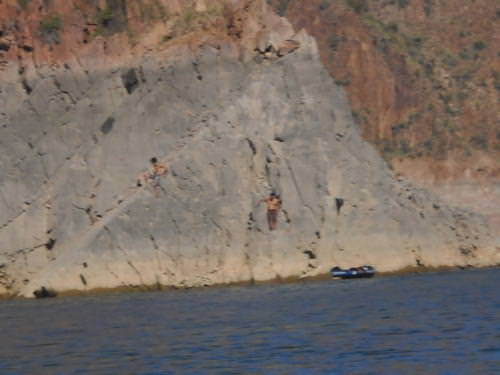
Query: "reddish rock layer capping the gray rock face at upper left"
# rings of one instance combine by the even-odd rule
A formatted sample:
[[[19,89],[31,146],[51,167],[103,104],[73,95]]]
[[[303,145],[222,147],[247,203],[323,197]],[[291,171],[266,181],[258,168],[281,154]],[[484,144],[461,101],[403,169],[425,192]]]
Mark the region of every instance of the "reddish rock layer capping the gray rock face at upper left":
[[[261,0],[3,0],[0,74],[63,64],[99,69],[176,45],[221,48],[224,41],[237,42],[242,59],[256,50],[283,55],[298,47],[293,34]]]

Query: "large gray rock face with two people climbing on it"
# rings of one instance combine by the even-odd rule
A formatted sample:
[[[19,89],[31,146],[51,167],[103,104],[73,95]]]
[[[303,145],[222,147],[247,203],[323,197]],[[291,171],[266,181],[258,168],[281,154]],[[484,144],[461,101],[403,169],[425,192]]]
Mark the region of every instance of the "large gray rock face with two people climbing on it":
[[[296,41],[263,61],[206,47],[3,83],[0,293],[499,263],[479,218],[394,179],[314,41]],[[169,167],[159,197],[136,185],[152,156]]]

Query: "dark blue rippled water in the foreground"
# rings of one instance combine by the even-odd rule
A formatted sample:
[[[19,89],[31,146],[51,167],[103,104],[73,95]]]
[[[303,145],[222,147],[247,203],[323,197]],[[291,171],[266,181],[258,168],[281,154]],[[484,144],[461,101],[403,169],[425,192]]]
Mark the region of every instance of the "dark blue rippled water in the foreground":
[[[1,374],[500,374],[500,270],[0,302]]]

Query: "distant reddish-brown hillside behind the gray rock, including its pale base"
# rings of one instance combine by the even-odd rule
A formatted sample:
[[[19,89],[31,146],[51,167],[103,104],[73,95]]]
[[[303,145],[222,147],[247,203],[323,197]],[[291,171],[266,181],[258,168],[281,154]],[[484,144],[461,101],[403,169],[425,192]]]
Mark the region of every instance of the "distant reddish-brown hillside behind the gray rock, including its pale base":
[[[270,0],[391,167],[500,232],[498,1]]]

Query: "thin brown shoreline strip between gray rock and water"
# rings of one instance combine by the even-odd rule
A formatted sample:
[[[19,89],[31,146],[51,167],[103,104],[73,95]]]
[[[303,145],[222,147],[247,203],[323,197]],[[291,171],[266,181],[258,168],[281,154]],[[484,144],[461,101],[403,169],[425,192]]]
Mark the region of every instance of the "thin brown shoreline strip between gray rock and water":
[[[467,270],[487,270],[499,268],[500,264],[490,265],[490,266],[439,266],[439,267],[425,267],[425,266],[409,266],[402,268],[398,271],[390,272],[377,272],[378,277],[391,277],[391,276],[401,276],[401,275],[412,275],[412,274],[422,274],[422,273],[441,273],[441,272],[459,272]],[[275,278],[271,280],[264,281],[241,281],[235,283],[220,283],[204,286],[193,286],[193,287],[176,287],[176,286],[166,286],[166,285],[141,285],[141,286],[120,286],[114,288],[93,288],[89,290],[66,290],[62,292],[56,291],[55,297],[85,297],[85,296],[100,296],[100,295],[114,295],[123,293],[144,293],[144,292],[170,292],[170,291],[182,291],[191,289],[207,289],[207,288],[232,288],[238,286],[261,286],[261,285],[280,285],[280,284],[293,284],[297,282],[314,282],[314,281],[339,281],[333,279],[330,273],[320,274],[316,276],[300,277],[292,276],[286,278]],[[30,299],[46,299],[46,298],[27,298],[19,295],[10,294],[0,294],[1,301],[11,301],[11,300],[30,300]]]

